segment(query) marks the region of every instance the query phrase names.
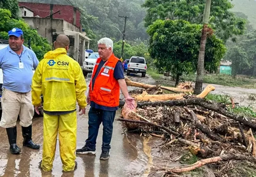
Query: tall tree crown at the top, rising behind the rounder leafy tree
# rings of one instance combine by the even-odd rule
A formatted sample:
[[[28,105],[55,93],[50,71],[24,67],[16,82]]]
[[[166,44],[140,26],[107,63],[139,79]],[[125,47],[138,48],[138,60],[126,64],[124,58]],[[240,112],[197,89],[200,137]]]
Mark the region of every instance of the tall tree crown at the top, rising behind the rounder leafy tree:
[[[183,19],[191,24],[202,24],[205,0],[146,0],[146,26],[157,19]],[[211,5],[210,25],[216,35],[226,41],[233,35],[244,33],[246,21],[230,11],[230,0],[215,0]]]

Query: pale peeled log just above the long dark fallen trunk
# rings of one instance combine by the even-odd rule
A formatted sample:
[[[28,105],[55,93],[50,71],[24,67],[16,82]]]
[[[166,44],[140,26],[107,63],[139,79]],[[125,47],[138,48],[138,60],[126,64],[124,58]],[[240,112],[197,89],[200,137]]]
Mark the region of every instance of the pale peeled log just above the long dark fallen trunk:
[[[183,99],[183,96],[185,96],[185,93],[180,94],[148,94],[147,92],[143,92],[139,95],[134,95],[134,99],[137,101],[166,101],[166,100],[173,100],[173,99]]]

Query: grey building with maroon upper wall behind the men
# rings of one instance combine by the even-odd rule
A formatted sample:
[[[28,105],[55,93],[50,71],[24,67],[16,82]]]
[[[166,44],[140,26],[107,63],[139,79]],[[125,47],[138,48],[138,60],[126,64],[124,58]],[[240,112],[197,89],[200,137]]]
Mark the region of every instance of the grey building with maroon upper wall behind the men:
[[[70,39],[69,53],[83,66],[85,50],[90,47],[90,38],[81,33],[80,12],[69,5],[19,2],[20,16],[38,34],[53,44],[57,35],[65,34]],[[52,16],[51,16],[52,12]]]

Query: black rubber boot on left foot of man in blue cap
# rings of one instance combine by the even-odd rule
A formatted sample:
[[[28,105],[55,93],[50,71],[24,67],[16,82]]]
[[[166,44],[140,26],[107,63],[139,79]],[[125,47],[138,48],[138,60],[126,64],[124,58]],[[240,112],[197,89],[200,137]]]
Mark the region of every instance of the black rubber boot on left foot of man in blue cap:
[[[16,144],[17,139],[17,127],[6,128],[8,140],[10,143],[10,152],[12,154],[19,154],[20,148]]]

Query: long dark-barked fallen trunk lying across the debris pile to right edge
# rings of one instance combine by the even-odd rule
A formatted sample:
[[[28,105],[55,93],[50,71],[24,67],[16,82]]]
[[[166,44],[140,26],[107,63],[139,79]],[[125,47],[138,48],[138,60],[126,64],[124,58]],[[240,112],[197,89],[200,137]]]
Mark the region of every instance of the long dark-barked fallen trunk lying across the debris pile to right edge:
[[[152,103],[139,103],[138,106],[187,106],[187,105],[198,105],[205,109],[215,111],[228,118],[234,119],[244,125],[256,129],[256,121],[245,118],[244,116],[234,115],[229,113],[224,109],[220,109],[217,105],[208,104],[203,99],[185,99],[185,100],[175,100],[175,101],[156,101]]]

